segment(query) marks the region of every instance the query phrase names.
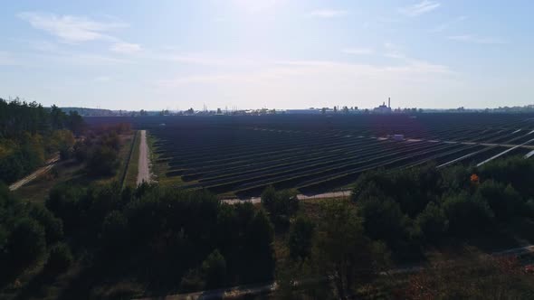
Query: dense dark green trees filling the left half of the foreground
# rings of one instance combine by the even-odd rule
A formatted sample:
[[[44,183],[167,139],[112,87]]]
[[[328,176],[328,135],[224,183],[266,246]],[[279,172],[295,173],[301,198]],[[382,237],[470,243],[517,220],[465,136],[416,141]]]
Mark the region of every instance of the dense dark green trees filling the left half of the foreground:
[[[39,261],[55,259],[54,268],[61,269],[72,258],[93,274],[91,285],[131,279],[149,285],[148,295],[273,277],[272,223],[252,203],[224,204],[208,192],[146,183],[136,189],[121,189],[119,183],[61,184],[44,206],[35,206],[41,221],[31,219],[33,204],[6,191],[2,196],[0,212],[20,211],[7,222],[0,219],[4,285]],[[67,253],[64,259],[54,258],[58,247]],[[76,287],[64,297],[79,298],[79,288],[92,287]]]

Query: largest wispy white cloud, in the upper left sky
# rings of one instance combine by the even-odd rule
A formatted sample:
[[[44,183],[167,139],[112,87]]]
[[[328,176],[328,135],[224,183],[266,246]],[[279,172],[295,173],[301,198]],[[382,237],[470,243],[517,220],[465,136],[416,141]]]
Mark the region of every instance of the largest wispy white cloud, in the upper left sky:
[[[62,42],[78,43],[94,40],[116,40],[108,33],[111,30],[128,26],[125,23],[100,22],[73,15],[43,14],[24,12],[19,18],[34,28],[50,33]]]

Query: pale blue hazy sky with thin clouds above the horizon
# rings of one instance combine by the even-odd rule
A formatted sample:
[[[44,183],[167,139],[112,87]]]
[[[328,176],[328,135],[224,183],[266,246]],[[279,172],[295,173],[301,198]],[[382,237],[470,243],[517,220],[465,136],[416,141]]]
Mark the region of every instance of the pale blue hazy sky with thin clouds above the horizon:
[[[1,0],[0,97],[45,106],[534,103],[534,2]]]

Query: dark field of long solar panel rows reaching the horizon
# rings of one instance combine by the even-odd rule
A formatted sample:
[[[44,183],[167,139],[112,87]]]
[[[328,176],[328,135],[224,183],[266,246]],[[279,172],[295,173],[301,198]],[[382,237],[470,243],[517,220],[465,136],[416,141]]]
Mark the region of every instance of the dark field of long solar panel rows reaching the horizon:
[[[90,118],[90,122],[124,122]],[[217,194],[257,196],[266,186],[325,192],[375,168],[435,162],[480,164],[534,149],[529,114],[416,116],[137,117],[147,129],[156,164],[176,185]],[[395,140],[393,135],[403,135]],[[502,155],[501,155],[502,154]]]

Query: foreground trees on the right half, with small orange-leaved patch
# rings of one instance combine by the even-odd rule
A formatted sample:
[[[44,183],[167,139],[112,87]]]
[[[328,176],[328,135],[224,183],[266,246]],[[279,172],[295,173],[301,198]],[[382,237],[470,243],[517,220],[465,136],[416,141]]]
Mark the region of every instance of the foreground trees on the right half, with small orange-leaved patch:
[[[294,212],[278,251],[276,296],[359,297],[393,266],[423,264],[428,251],[461,250],[481,238],[496,242],[502,234],[532,241],[533,173],[534,161],[521,156],[481,167],[377,170],[359,177],[349,200],[321,202],[315,216],[286,210],[281,215]],[[273,215],[280,212],[268,211],[279,219]],[[498,294],[488,287],[501,284],[500,293],[532,295],[534,281],[522,275],[519,262],[473,253],[433,259],[408,285],[387,292],[406,299],[489,299]],[[466,261],[472,264],[462,265]]]

